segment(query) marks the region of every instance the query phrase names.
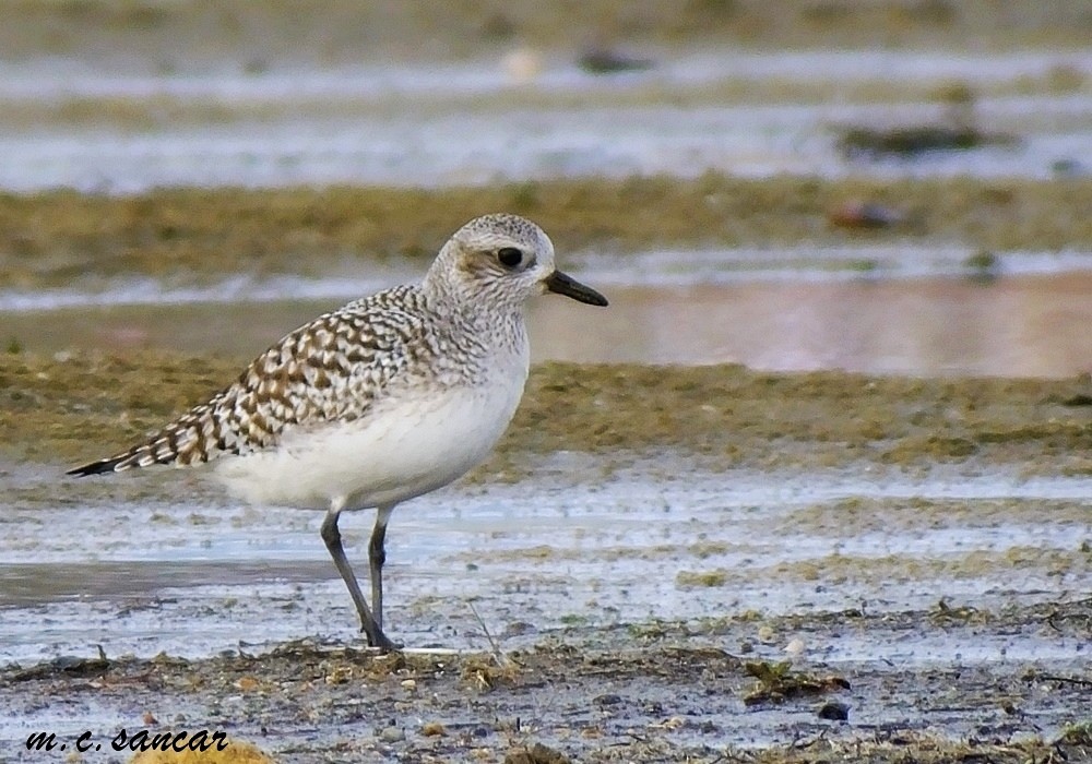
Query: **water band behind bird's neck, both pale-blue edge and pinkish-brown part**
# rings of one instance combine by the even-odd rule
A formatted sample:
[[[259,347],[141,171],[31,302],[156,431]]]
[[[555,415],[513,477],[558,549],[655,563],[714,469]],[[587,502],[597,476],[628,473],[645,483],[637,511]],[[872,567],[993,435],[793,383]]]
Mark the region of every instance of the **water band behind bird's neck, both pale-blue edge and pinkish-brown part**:
[[[858,255],[873,258],[875,273],[853,270]],[[1052,273],[1085,267],[1089,255],[1005,258],[1002,273],[1040,267],[1046,275],[985,282],[915,276],[954,273],[962,268],[954,256],[934,253],[931,263],[906,256],[905,264],[885,256],[882,251],[843,250],[826,259],[820,253],[803,273],[786,264],[792,252],[735,259],[634,255],[625,273],[624,258],[589,259],[580,276],[608,294],[610,309],[595,314],[596,331],[589,332],[590,314],[579,306],[534,301],[529,317],[534,359],[739,362],[776,371],[915,375],[1065,378],[1092,370],[1092,335],[1085,331],[1092,325],[1092,273]],[[688,285],[693,280],[709,283]],[[667,285],[632,286],[656,282]],[[168,348],[251,356],[380,284],[285,279],[251,290],[239,279],[175,293],[144,284],[98,295],[9,295],[0,298],[7,308],[0,321],[5,341],[15,338],[34,353]],[[256,291],[264,299],[251,301]],[[240,300],[240,293],[250,299]],[[314,297],[285,299],[286,294]],[[122,303],[133,299],[143,303]]]

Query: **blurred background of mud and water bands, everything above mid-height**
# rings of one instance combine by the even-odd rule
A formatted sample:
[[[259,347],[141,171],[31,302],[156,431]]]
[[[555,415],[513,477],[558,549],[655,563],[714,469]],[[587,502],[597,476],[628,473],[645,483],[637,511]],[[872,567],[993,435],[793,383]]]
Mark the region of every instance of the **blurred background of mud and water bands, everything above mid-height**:
[[[1092,369],[1087,0],[12,0],[0,341],[252,355],[525,214],[539,359]]]

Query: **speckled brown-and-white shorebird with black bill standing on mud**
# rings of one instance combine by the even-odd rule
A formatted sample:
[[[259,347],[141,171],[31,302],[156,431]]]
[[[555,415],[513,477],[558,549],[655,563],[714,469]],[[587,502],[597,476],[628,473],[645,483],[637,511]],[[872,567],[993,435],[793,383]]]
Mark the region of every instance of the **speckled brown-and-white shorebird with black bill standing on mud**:
[[[383,631],[394,508],[464,475],[508,428],[530,371],[529,299],[554,293],[607,306],[554,259],[554,243],[531,220],[476,217],[440,248],[420,282],[320,315],[205,403],[67,474],[209,465],[249,504],[324,510],[320,535],[368,645],[401,649]],[[370,509],[371,607],[337,528],[342,512]]]

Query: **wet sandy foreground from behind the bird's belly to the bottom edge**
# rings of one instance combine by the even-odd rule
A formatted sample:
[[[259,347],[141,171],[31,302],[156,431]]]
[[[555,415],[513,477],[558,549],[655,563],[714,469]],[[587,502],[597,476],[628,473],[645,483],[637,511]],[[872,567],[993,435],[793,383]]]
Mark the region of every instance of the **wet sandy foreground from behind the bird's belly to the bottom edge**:
[[[294,762],[1088,755],[1087,377],[536,367],[498,453],[395,517],[392,619],[424,652],[373,657],[309,513],[57,477],[240,360],[3,358],[15,718]]]

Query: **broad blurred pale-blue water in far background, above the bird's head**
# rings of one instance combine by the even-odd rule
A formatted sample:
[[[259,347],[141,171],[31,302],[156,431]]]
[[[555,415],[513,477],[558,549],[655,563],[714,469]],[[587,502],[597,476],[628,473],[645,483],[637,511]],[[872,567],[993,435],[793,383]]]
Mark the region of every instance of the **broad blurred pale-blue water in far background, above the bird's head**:
[[[0,76],[8,115],[0,119],[0,188],[435,187],[705,170],[1043,178],[1056,162],[1082,171],[1092,142],[1089,60],[1087,51],[724,49],[665,52],[649,72],[613,77],[547,59],[535,79],[518,82],[497,61],[164,74],[45,59],[9,64]],[[1073,84],[1053,92],[1051,72],[1059,70]],[[863,81],[885,83],[893,95],[862,103],[840,89]],[[1019,136],[1019,145],[878,164],[838,154],[836,126],[945,121],[945,107],[900,99],[899,85],[952,81],[987,89],[1010,83],[1014,93],[984,95],[975,114],[990,131]],[[807,103],[717,95],[763,82],[773,93],[805,83],[830,95]]]

